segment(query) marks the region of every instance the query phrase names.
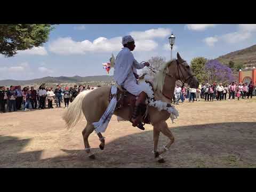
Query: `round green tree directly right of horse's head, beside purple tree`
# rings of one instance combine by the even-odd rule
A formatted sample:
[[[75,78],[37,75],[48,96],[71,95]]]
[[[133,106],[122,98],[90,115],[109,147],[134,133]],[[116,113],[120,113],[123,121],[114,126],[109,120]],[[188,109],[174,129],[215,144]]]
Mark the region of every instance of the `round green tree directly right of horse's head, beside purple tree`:
[[[207,59],[204,57],[196,57],[191,60],[191,70],[200,83],[205,82],[207,79],[207,71],[205,71],[205,63]]]

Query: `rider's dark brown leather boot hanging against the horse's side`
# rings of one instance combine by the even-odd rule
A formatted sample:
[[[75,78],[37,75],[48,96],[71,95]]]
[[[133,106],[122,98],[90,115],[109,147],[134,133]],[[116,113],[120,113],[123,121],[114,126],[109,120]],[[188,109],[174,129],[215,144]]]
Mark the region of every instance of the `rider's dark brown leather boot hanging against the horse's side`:
[[[139,98],[137,99],[135,103],[135,107],[133,109],[133,114],[131,118],[132,126],[137,126],[141,130],[145,130],[143,127],[143,124],[141,123],[141,117],[140,117],[140,105],[144,104],[146,101],[146,93],[141,92],[139,95]]]

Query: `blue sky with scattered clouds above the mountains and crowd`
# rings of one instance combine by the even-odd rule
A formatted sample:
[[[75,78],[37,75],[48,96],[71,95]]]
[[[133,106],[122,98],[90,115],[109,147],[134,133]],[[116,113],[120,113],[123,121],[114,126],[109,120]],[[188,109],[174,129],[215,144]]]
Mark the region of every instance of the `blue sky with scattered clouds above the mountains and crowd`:
[[[188,62],[195,57],[214,59],[256,44],[255,24],[58,25],[42,47],[20,51],[12,58],[0,55],[0,79],[107,75],[102,63],[111,53],[117,55],[125,35],[135,39],[137,61],[154,56],[169,60],[171,33],[176,36],[173,55],[179,52]]]

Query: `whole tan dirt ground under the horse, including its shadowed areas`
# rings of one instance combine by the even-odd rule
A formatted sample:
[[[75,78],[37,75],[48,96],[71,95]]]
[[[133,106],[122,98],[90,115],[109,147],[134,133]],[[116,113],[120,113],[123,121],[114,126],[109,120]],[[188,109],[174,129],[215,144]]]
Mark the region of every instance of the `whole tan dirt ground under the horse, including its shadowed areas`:
[[[186,101],[176,108],[180,117],[167,121],[175,142],[163,164],[152,154],[151,125],[141,131],[113,116],[103,134],[105,150],[91,134],[91,160],[81,133],[85,120],[68,132],[65,109],[0,114],[0,167],[256,167],[256,99]],[[158,148],[167,142],[161,134]]]

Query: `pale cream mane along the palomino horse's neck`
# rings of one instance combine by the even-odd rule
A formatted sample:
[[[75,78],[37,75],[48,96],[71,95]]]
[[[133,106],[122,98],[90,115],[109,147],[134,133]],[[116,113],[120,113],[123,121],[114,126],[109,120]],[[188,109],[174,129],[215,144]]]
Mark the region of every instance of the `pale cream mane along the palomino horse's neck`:
[[[164,63],[164,65],[159,68],[160,71],[157,71],[153,81],[154,91],[157,91],[160,94],[162,93],[165,74],[169,73],[169,66],[173,63],[173,61],[175,61],[175,59]]]

